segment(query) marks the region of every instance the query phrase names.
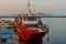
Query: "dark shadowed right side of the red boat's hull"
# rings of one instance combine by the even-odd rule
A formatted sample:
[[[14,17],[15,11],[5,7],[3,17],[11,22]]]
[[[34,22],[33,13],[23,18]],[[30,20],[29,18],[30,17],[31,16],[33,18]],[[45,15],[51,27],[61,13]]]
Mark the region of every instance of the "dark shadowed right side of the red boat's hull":
[[[48,32],[48,30],[45,30],[45,31],[43,31],[43,32],[35,32],[35,33],[33,33],[33,34],[31,34],[31,35],[32,35],[32,38],[33,38],[33,40],[42,40],[43,36],[44,36],[47,32]]]

